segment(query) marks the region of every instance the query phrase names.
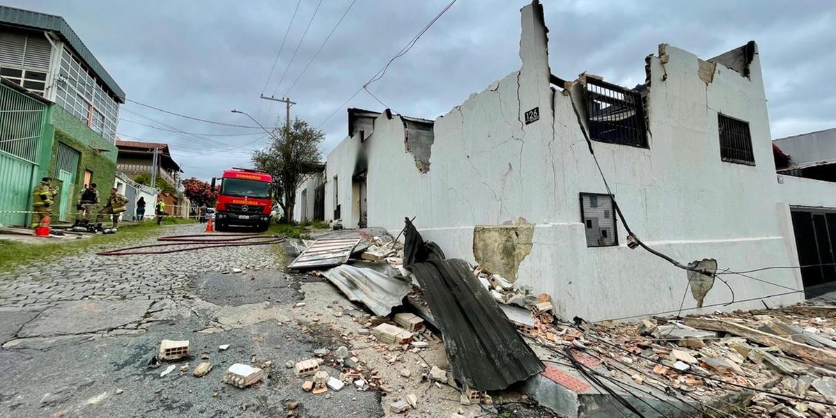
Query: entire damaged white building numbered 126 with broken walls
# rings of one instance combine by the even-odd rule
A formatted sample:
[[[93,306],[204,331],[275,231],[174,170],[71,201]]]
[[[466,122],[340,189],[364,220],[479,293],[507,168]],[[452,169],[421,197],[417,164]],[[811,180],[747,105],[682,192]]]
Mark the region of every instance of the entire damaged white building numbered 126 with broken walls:
[[[297,220],[319,212],[395,235],[415,217],[447,257],[590,321],[676,312],[686,291],[686,271],[628,246],[624,221],[682,263],[716,259],[718,273],[798,266],[792,212],[836,207],[836,185],[776,175],[756,43],[707,60],[660,44],[645,84],[626,89],[553,75],[543,7],[521,13],[522,67],[446,115],[350,109],[349,135],[298,189]],[[803,300],[798,269],[747,275],[720,276],[733,295],[717,281],[701,309]],[[684,307],[696,304],[688,291]]]

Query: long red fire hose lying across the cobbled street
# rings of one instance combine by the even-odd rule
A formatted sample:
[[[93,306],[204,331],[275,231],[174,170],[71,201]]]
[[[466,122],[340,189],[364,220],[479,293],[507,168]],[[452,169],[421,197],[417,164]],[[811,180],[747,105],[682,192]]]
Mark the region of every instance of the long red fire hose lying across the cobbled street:
[[[220,237],[221,239],[217,239]],[[120,248],[117,250],[96,252],[99,256],[133,256],[140,254],[170,254],[172,252],[195,251],[206,248],[219,247],[244,247],[252,245],[271,245],[284,242],[284,237],[280,235],[263,235],[260,233],[247,234],[194,234],[194,235],[172,235],[170,237],[159,237],[157,241],[165,241],[163,244],[148,244],[136,247]],[[189,247],[183,247],[189,246]],[[142,248],[163,248],[163,247],[181,247],[171,249],[161,249],[158,251],[141,250]]]

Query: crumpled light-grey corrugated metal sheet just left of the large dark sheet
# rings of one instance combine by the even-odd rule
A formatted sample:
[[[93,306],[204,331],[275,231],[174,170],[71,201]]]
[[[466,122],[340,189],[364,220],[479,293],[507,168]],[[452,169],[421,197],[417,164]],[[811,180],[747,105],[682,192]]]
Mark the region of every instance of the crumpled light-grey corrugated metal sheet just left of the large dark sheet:
[[[321,273],[350,301],[363,303],[378,316],[389,315],[393,307],[403,304],[412,288],[412,283],[394,269],[381,273],[373,268],[343,264]]]

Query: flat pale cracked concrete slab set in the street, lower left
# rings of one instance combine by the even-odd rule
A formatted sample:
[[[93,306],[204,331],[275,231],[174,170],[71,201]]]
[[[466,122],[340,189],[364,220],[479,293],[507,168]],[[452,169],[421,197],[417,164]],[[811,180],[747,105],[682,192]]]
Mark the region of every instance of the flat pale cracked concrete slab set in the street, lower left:
[[[18,337],[86,334],[119,328],[141,321],[150,304],[150,300],[60,302],[24,325]]]

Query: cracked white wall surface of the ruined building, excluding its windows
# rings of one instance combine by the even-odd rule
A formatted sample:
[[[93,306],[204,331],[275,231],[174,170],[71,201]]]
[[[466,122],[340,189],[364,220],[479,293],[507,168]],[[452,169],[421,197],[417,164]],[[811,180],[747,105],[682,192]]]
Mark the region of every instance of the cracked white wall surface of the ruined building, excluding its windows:
[[[374,133],[366,132],[368,140],[347,138],[329,154],[326,219],[333,215],[338,176],[344,226],[356,227],[350,176],[359,161],[368,161],[371,226],[396,233],[404,217],[416,217],[424,237],[449,257],[475,263],[474,225],[523,217],[536,227],[517,283],[552,295],[561,314],[599,320],[676,310],[686,272],[626,247],[622,222],[618,247],[586,246],[579,193],[606,190],[570,97],[549,87],[542,15],[535,6],[523,8],[522,15],[522,68],[436,119],[429,172],[421,174],[405,150],[397,115],[380,115]],[[750,78],[718,64],[709,84],[697,75],[696,55],[670,46],[665,54],[667,64],[650,59],[650,148],[593,143],[630,227],[650,247],[682,263],[713,257],[721,269],[797,265],[788,204],[803,200],[807,191],[787,191],[787,198],[779,191],[757,54]],[[524,125],[524,112],[534,107],[540,120]],[[755,166],[721,161],[718,112],[747,120]],[[836,194],[828,197],[821,196],[822,204],[836,207]],[[794,270],[757,277],[802,286]],[[740,276],[725,278],[736,300],[787,292]],[[794,293],[766,302],[776,306],[801,298]],[[717,282],[705,304],[731,300]],[[689,293],[685,308],[695,306]],[[757,307],[760,301],[704,310]]]

